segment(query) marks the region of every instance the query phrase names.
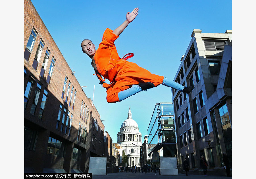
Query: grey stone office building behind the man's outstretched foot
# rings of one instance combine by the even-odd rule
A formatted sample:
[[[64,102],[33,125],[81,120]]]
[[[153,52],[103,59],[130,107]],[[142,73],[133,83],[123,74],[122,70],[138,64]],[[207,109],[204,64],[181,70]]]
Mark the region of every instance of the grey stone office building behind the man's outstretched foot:
[[[194,89],[172,89],[178,163],[187,158],[191,169],[200,168],[203,155],[209,167],[223,168],[223,152],[232,164],[232,31],[194,29],[191,37],[174,81]]]

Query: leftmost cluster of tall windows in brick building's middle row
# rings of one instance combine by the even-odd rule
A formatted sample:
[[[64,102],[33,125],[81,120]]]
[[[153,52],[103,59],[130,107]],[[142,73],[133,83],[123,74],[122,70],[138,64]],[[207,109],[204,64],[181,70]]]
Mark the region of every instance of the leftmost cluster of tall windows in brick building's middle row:
[[[27,74],[27,71],[25,68],[24,68],[24,73]],[[36,87],[36,89],[34,89],[33,87]],[[32,78],[32,76],[29,76],[28,83],[24,92],[24,110],[26,110],[27,108],[28,101],[32,100],[30,114],[36,115],[36,111],[38,111],[37,108],[39,108],[39,112],[37,116],[39,119],[42,119],[45,103],[47,100],[47,95],[48,95],[47,90],[43,89],[42,85],[39,82],[36,82],[35,78]]]

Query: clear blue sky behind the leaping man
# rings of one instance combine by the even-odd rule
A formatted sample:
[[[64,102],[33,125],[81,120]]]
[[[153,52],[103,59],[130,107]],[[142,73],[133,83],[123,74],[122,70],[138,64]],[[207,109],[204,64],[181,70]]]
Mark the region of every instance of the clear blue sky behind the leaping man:
[[[82,53],[81,42],[91,39],[98,47],[106,28],[114,30],[126,20],[126,13],[139,7],[135,20],[120,34],[115,45],[120,57],[134,53],[128,61],[151,73],[173,80],[186,52],[193,29],[202,33],[232,30],[232,1],[37,1],[32,0],[70,68],[88,98],[101,115],[113,143],[117,141],[129,106],[142,137],[156,103],[172,102],[171,89],[163,85],[142,91],[126,100],[107,103],[105,88],[93,76],[91,59]]]

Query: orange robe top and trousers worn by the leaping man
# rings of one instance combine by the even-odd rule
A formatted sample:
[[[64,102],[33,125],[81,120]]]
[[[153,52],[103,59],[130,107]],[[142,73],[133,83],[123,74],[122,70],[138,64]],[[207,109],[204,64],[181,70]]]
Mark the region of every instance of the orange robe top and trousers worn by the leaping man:
[[[94,56],[98,72],[110,81],[110,84],[103,83],[103,87],[107,89],[107,102],[119,102],[118,92],[129,89],[132,85],[138,85],[140,82],[151,82],[155,87],[160,85],[163,82],[163,76],[151,74],[136,63],[119,57],[114,44],[119,36],[112,32],[108,28],[105,30],[102,42]],[[105,81],[100,76],[98,77],[100,81]]]

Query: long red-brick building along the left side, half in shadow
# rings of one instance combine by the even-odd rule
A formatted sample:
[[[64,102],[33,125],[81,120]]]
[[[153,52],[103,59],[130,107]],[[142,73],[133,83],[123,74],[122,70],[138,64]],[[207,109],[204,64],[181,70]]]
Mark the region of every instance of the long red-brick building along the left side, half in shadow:
[[[25,172],[88,172],[104,125],[30,0],[24,1]]]

